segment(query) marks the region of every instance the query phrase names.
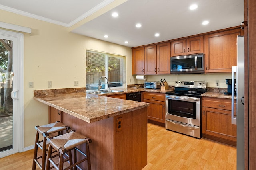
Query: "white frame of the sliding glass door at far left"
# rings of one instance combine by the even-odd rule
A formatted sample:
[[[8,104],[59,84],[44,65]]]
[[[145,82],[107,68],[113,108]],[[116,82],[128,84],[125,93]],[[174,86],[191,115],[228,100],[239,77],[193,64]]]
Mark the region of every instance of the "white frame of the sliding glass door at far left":
[[[13,41],[13,147],[0,158],[24,151],[24,34],[0,29],[0,39]]]

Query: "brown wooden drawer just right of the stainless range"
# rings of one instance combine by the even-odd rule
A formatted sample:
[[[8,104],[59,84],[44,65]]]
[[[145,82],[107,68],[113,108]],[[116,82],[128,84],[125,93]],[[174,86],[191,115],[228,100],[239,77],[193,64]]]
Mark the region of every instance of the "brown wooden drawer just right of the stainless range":
[[[231,110],[231,99],[203,97],[202,107]],[[236,106],[234,106],[234,109],[236,110]]]

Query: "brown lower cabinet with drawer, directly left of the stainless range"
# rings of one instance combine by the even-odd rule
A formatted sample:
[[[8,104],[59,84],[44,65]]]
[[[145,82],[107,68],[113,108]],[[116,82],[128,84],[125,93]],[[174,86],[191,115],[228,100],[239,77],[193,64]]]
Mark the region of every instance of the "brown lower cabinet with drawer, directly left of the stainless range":
[[[142,102],[149,103],[148,122],[165,127],[165,93],[142,92]]]

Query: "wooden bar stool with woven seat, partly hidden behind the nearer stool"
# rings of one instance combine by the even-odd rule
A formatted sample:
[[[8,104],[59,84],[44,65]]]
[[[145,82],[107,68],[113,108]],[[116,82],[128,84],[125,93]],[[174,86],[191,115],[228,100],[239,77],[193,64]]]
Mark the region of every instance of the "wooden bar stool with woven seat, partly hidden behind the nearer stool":
[[[70,129],[69,126],[64,125],[60,121],[56,121],[55,123],[50,123],[48,125],[36,126],[36,141],[35,141],[35,148],[34,148],[34,157],[33,157],[33,165],[32,170],[36,169],[36,164],[40,167],[40,169],[45,170],[45,159],[46,159],[46,137],[49,137],[50,134],[58,133],[61,135],[64,131],[68,133]],[[43,140],[39,141],[39,135],[43,136]],[[41,145],[42,143],[42,145]],[[38,148],[42,150],[42,156],[38,156]],[[42,164],[39,163],[38,159],[42,158]]]

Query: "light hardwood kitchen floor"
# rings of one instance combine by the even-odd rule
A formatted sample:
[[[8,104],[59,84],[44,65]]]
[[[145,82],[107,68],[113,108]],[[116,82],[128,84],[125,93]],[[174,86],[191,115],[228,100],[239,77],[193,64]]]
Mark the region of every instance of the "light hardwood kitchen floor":
[[[33,151],[1,158],[0,170],[31,170]],[[236,148],[148,123],[148,164],[143,170],[236,170]]]

